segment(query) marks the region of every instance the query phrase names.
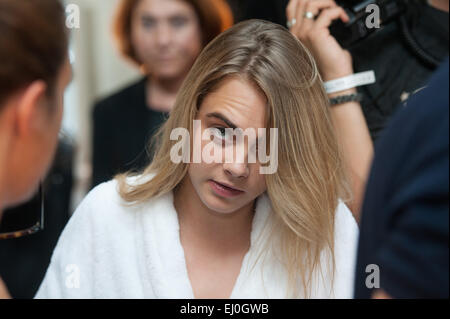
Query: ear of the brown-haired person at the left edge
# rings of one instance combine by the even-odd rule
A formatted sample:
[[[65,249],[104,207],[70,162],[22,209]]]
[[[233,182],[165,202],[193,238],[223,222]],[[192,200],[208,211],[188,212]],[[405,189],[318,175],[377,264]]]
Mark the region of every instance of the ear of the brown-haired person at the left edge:
[[[17,100],[16,134],[33,134],[36,124],[41,121],[46,91],[47,84],[42,80],[34,81],[22,90]]]

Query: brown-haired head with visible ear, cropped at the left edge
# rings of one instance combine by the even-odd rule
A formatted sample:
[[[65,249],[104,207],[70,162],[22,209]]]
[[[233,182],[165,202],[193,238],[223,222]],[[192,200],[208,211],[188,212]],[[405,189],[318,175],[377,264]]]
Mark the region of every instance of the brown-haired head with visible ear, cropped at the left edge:
[[[50,168],[72,70],[58,0],[0,0],[0,34],[1,222],[4,209],[33,197]],[[0,298],[8,297],[0,278]]]

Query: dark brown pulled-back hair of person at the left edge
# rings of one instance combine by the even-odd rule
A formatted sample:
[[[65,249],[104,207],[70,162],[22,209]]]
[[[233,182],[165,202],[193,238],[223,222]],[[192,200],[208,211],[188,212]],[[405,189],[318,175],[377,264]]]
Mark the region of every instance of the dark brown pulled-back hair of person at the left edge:
[[[59,0],[0,0],[0,109],[35,80],[53,93],[67,56],[66,30]]]

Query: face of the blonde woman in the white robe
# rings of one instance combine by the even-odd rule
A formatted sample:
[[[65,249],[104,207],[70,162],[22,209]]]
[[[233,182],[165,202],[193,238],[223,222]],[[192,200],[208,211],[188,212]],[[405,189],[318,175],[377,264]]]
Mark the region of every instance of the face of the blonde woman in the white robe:
[[[265,95],[253,83],[240,78],[230,77],[224,80],[219,88],[203,100],[196,120],[201,121],[201,128],[195,134],[203,134],[205,130],[215,137],[224,140],[229,138],[225,128],[240,128],[242,130],[266,128]],[[234,127],[233,127],[234,126]],[[201,130],[201,132],[200,132]],[[244,139],[244,161],[236,160],[227,163],[222,157],[222,163],[189,164],[189,178],[200,200],[205,206],[218,213],[233,213],[240,209],[251,208],[254,200],[266,191],[264,175],[260,174],[260,163],[249,163],[248,150],[254,149],[256,140]],[[195,143],[195,142],[194,142]],[[202,141],[202,150],[211,141]],[[222,146],[223,154],[226,148],[233,148],[237,153],[237,140],[231,139],[228,146]],[[195,150],[193,150],[195,152]],[[224,187],[229,186],[235,190]]]

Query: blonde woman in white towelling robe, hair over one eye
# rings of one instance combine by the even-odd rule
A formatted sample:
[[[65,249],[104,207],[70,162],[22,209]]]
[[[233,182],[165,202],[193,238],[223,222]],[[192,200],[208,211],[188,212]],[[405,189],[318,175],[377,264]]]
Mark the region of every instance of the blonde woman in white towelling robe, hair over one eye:
[[[227,154],[234,128],[269,132],[270,162],[249,161],[260,130],[244,161],[195,161],[211,143],[195,136]],[[177,162],[180,129],[194,143]],[[75,212],[37,297],[350,298],[358,229],[343,166],[311,55],[280,26],[240,23],[194,64],[152,164]]]

